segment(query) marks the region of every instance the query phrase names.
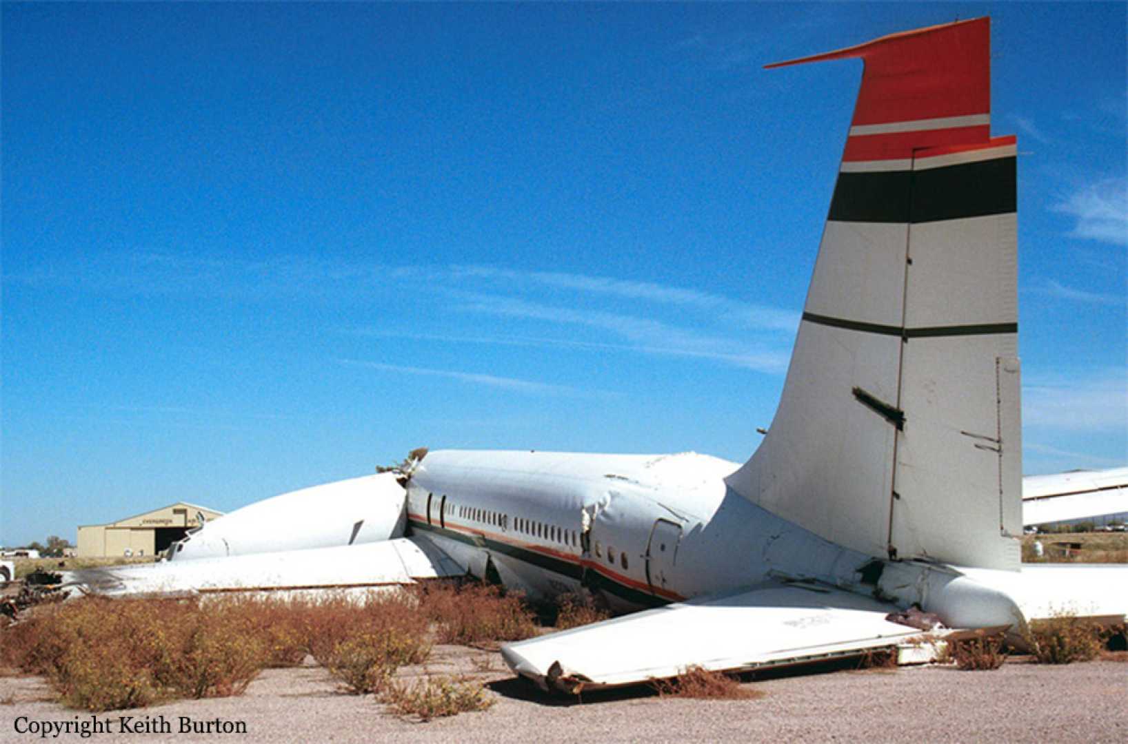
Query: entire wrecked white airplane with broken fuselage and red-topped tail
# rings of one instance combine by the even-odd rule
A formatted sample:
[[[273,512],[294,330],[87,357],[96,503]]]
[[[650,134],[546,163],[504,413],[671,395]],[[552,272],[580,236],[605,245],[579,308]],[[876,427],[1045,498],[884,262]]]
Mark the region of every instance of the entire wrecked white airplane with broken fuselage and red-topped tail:
[[[1016,152],[990,134],[989,20],[781,64],[854,57],[794,353],[748,462],[430,452],[233,512],[103,591],[588,590],[624,614],[502,647],[567,692],[857,655],[919,636],[898,621],[915,611],[1012,634],[1122,619],[1128,567],[1021,564]]]

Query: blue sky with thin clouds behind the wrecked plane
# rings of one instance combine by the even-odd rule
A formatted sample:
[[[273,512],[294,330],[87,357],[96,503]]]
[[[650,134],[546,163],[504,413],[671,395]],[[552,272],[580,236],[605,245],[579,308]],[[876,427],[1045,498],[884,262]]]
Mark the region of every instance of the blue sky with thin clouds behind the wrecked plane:
[[[1123,3],[5,3],[0,541],[420,445],[743,461],[861,72],[761,65],[982,15],[1025,472],[1123,464]]]

